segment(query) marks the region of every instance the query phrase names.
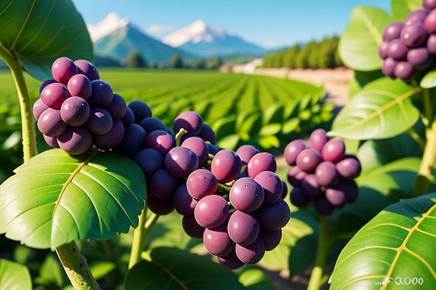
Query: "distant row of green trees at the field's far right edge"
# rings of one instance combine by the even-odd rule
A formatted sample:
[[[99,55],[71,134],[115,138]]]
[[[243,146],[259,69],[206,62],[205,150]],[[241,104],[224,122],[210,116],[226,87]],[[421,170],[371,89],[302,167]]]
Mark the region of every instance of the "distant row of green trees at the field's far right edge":
[[[288,67],[290,69],[341,67],[343,63],[338,54],[338,42],[339,38],[332,36],[320,42],[313,40],[304,46],[293,45],[288,49],[263,56],[262,67]]]

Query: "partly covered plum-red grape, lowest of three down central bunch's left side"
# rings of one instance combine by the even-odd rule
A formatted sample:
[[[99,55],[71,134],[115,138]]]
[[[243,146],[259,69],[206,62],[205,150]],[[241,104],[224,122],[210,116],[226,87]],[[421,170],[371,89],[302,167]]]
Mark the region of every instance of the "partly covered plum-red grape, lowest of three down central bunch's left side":
[[[205,229],[203,243],[206,250],[215,256],[226,256],[235,250],[235,242],[228,236],[226,223]]]

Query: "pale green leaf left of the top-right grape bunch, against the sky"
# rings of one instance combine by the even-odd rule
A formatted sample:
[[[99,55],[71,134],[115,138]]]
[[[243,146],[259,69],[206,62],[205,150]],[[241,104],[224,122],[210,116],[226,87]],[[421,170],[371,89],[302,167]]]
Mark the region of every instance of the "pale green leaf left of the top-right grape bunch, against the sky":
[[[383,30],[389,23],[391,17],[380,8],[357,6],[353,9],[350,24],[338,44],[343,63],[353,70],[380,69],[382,60],[377,51],[382,44]]]

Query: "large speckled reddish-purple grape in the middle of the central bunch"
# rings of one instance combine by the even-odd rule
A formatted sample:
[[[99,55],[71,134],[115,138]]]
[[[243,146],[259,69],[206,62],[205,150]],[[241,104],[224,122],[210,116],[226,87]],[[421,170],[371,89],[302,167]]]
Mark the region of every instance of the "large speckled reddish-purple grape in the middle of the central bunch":
[[[236,179],[228,198],[235,209],[249,213],[263,204],[265,193],[262,186],[250,177]]]

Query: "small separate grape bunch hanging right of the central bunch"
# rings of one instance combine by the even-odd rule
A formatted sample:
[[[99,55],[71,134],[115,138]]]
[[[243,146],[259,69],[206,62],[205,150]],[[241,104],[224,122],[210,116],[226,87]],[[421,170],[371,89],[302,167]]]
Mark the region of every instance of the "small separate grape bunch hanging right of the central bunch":
[[[330,139],[324,129],[316,129],[309,137],[309,147],[302,140],[293,140],[283,152],[291,168],[288,182],[293,186],[290,201],[297,207],[313,202],[324,216],[357,199],[355,178],[360,175],[359,159],[345,154],[339,138]]]

